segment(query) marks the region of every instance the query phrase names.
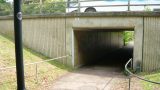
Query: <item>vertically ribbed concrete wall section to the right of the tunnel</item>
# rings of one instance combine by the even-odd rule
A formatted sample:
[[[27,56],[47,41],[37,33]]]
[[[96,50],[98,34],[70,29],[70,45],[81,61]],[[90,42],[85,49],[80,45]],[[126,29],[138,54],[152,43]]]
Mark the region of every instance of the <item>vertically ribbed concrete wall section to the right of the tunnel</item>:
[[[143,70],[160,68],[160,17],[144,18]]]

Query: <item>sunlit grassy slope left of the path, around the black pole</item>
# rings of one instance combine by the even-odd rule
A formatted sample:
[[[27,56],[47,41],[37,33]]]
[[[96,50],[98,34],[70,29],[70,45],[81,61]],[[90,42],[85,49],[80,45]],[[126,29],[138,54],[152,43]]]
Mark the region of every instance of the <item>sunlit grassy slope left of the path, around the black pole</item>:
[[[24,49],[24,63],[31,63],[48,59],[29,49]],[[14,43],[0,35],[0,68],[15,65]],[[37,65],[38,74],[36,79],[36,65],[25,66],[26,88],[29,90],[44,90],[61,75],[71,70],[56,61],[45,62]],[[0,71],[0,90],[16,90],[15,68]]]

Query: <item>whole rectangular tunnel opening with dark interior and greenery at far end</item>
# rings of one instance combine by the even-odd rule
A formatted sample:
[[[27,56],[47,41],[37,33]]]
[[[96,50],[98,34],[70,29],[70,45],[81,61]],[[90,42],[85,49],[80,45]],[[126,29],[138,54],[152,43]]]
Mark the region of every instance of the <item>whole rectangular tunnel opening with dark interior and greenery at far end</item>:
[[[75,30],[74,65],[124,68],[129,58],[133,57],[133,41],[126,41],[130,39],[128,33],[134,34],[134,31],[131,29]]]

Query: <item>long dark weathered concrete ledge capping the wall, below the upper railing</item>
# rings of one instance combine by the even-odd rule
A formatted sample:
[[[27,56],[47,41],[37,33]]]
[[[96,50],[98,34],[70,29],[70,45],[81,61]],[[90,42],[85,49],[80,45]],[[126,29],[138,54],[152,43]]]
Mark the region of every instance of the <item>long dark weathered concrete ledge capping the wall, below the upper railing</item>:
[[[96,13],[61,13],[52,15],[23,15],[24,19],[35,19],[35,18],[57,18],[57,17],[160,17],[160,12],[146,12],[146,11],[121,11],[121,12],[96,12]],[[13,16],[1,16],[0,19],[13,19]]]

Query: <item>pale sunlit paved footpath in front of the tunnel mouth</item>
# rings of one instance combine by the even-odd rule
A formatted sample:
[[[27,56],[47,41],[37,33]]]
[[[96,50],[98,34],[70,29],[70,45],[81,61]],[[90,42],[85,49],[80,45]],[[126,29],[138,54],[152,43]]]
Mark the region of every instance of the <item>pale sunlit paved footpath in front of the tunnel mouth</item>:
[[[50,90],[128,90],[128,78],[116,67],[84,67],[55,81]],[[134,78],[131,90],[143,90]]]

